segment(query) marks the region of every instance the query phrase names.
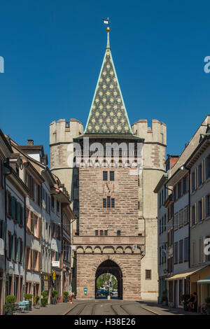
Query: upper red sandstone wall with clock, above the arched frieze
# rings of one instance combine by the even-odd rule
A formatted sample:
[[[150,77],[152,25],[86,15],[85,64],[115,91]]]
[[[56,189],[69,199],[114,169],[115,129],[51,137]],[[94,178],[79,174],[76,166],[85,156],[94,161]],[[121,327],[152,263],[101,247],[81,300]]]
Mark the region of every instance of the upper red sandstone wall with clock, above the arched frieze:
[[[114,181],[103,181],[103,171],[115,172]],[[80,235],[95,235],[107,230],[109,235],[137,236],[138,176],[129,168],[80,168]],[[103,208],[103,198],[115,199],[115,207]]]

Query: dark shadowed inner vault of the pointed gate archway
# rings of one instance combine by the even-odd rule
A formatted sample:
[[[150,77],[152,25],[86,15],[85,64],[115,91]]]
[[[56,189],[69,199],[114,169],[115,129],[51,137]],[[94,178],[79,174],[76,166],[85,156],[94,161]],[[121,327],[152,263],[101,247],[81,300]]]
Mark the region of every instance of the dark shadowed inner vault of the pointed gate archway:
[[[95,272],[95,295],[97,291],[97,279],[100,275],[104,273],[110,273],[116,276],[118,281],[118,298],[123,299],[123,272],[120,269],[119,265],[113,260],[104,260]]]

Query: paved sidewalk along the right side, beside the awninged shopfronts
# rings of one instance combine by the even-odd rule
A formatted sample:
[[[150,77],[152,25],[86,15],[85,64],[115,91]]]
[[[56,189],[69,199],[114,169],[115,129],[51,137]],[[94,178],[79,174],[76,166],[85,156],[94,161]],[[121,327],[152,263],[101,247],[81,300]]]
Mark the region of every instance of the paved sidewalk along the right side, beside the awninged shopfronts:
[[[200,315],[196,312],[184,311],[183,309],[162,306],[157,302],[139,302],[143,309],[151,311],[156,315]]]

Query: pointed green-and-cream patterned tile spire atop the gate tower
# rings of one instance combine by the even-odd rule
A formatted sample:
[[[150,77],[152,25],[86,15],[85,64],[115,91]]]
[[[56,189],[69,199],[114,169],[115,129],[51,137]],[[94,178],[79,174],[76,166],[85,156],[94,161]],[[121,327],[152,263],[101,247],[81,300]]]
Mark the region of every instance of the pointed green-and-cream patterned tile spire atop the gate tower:
[[[109,44],[85,127],[85,134],[132,134]]]

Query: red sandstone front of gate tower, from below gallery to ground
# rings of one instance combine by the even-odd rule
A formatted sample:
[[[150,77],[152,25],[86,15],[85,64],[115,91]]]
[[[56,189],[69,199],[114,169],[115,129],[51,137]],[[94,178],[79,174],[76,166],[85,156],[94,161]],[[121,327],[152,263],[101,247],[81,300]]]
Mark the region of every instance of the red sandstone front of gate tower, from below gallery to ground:
[[[77,298],[95,296],[97,269],[112,260],[118,269],[109,266],[107,272],[116,275],[119,297],[141,299],[141,255],[144,238],[138,227],[138,176],[130,168],[80,168],[80,219],[77,246]],[[103,172],[114,172],[114,181],[103,181]],[[115,207],[104,208],[103,199],[115,199]],[[96,236],[95,231],[107,230],[107,236]],[[120,231],[120,235],[117,235]],[[137,244],[137,249],[133,245]],[[106,267],[102,269],[106,272]],[[87,295],[84,294],[87,288]]]

